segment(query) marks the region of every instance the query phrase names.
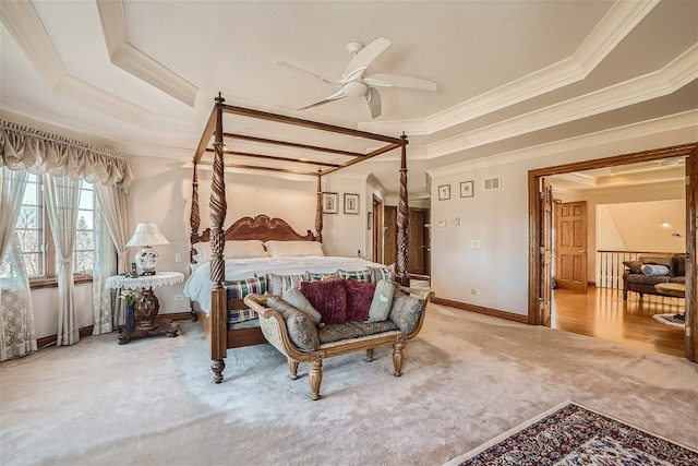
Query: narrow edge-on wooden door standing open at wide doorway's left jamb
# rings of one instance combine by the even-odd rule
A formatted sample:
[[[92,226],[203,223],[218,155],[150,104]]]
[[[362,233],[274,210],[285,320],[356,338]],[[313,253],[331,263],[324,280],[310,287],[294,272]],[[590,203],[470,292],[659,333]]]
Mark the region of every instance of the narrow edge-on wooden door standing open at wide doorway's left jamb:
[[[541,178],[541,289],[540,289],[540,318],[542,325],[550,326],[552,313],[552,256],[553,256],[553,188],[550,182]]]

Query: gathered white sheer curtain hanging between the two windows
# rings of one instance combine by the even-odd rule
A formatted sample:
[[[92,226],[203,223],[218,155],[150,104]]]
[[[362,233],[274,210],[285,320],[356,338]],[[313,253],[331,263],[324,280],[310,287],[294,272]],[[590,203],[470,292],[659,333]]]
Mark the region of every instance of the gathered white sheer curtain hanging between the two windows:
[[[80,181],[70,177],[41,176],[44,200],[51,223],[56,259],[58,260],[58,346],[73,345],[80,340],[75,314],[73,283],[73,247],[77,224]]]

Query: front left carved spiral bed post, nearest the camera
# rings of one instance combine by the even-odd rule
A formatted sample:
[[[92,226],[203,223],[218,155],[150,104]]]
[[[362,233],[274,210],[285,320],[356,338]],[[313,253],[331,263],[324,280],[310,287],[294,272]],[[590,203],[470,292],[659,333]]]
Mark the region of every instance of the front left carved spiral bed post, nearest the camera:
[[[216,100],[216,136],[214,142],[214,172],[210,187],[210,369],[214,371],[214,382],[222,382],[222,371],[226,368],[224,358],[228,353],[227,343],[227,297],[222,286],[225,278],[225,231],[222,224],[226,219],[226,182],[222,160],[222,105],[226,100],[218,94]]]

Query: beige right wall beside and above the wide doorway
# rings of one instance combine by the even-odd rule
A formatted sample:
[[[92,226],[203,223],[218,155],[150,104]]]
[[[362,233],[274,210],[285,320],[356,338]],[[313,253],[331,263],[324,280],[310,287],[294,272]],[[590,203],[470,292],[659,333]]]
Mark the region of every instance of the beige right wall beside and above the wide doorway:
[[[430,170],[433,290],[441,298],[528,314],[528,171],[684,144],[695,138],[695,126],[642,134],[619,130],[564,146],[535,147]],[[502,188],[484,192],[483,179],[494,176],[501,177]],[[467,180],[474,181],[474,196],[459,198],[459,183]],[[437,200],[442,184],[452,186],[448,201]],[[622,196],[616,199],[625,202]],[[460,229],[454,228],[456,217],[460,217]],[[440,220],[447,223],[445,228],[438,226]],[[480,248],[470,248],[469,240],[479,240]],[[479,294],[472,295],[472,289]]]

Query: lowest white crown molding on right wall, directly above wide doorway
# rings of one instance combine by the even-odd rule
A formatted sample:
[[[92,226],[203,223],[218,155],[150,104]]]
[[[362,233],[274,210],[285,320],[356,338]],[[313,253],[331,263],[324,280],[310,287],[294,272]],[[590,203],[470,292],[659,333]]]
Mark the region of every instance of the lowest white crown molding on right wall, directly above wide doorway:
[[[578,150],[590,148],[601,146],[603,144],[618,143],[619,141],[634,140],[683,129],[693,129],[694,132],[698,129],[698,110],[688,110],[681,113],[670,115],[667,117],[627,124],[591,134],[583,134],[546,144],[525,147],[495,156],[485,156],[445,167],[432,168],[428,169],[426,172],[432,177],[444,177],[480,168],[559,155],[561,153],[569,151],[570,147]],[[688,139],[684,142],[691,141],[695,141],[695,135],[694,139]]]

